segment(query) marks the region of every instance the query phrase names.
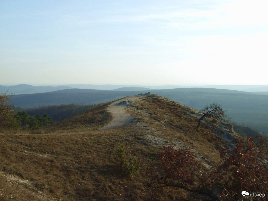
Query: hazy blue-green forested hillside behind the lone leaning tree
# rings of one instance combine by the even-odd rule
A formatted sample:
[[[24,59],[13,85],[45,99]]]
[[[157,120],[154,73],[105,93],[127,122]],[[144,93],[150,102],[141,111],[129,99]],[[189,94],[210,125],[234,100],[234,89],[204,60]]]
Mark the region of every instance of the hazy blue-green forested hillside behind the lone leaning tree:
[[[267,95],[210,88],[166,89],[151,92],[197,110],[214,102],[221,104],[234,122],[250,126],[258,132],[268,133]]]

